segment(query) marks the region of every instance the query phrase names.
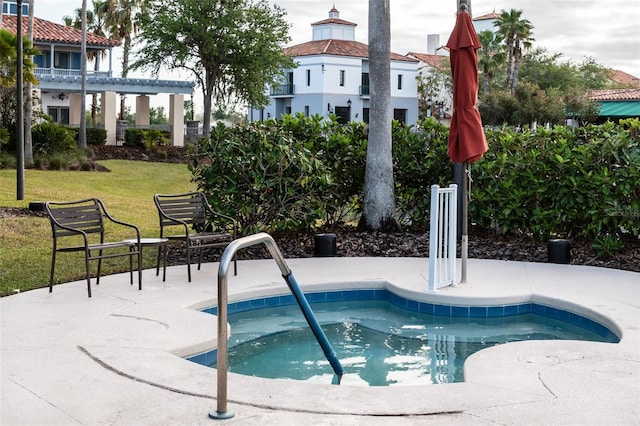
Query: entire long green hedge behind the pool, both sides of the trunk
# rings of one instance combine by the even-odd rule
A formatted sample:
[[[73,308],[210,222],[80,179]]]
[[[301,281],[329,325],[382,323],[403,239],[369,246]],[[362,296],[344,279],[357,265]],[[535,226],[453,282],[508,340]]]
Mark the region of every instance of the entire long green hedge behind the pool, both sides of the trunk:
[[[426,230],[431,185],[452,182],[448,128],[394,123],[398,218]],[[472,165],[469,222],[480,228],[590,239],[603,255],[640,232],[640,120],[579,129],[487,131],[489,151]],[[367,128],[285,116],[219,126],[190,154],[198,188],[244,233],[312,229],[355,221],[362,205]]]

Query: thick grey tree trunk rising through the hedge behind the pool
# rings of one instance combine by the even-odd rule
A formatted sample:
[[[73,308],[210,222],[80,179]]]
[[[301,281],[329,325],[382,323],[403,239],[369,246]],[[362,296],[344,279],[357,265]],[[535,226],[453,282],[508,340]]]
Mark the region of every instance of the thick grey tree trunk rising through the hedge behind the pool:
[[[369,141],[361,229],[396,231],[391,141],[389,0],[369,0]]]

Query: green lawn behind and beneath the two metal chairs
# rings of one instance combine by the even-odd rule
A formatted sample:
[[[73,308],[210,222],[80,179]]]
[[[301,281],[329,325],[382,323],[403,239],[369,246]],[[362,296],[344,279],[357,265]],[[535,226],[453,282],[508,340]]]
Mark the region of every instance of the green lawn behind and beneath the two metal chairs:
[[[0,170],[0,207],[28,207],[31,201],[97,197],[116,219],[137,225],[143,237],[154,237],[158,236],[159,229],[153,195],[195,189],[184,164],[126,160],[100,161],[100,164],[111,172],[26,170],[25,200],[22,201],[16,200],[16,171]],[[113,239],[119,237],[114,234]],[[51,247],[47,218],[0,219],[0,296],[48,286]],[[154,265],[153,250],[146,250],[145,268]],[[115,272],[123,270],[123,266],[112,263],[105,270]],[[56,281],[81,279],[83,271],[81,254],[63,253],[56,263]]]

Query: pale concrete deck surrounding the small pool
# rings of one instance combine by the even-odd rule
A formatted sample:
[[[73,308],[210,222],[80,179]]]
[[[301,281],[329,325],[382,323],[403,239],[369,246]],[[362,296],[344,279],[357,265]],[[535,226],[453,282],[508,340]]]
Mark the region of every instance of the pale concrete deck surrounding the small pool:
[[[305,292],[389,289],[451,305],[535,302],[592,318],[620,343],[526,341],[471,356],[465,382],[357,387],[229,374],[229,420],[211,420],[216,371],[181,359],[216,344],[216,263],[103,277],[0,299],[0,424],[640,424],[640,273],[469,260],[469,283],[428,293],[425,258],[287,259]],[[239,261],[230,301],[288,289],[272,260]]]

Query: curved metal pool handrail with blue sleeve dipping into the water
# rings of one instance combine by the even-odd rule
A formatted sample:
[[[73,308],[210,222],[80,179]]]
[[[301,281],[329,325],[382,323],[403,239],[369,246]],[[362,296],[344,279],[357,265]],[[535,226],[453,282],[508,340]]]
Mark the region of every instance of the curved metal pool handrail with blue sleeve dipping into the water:
[[[287,266],[287,263],[285,262],[284,257],[282,256],[282,253],[280,252],[280,249],[278,248],[278,245],[276,244],[273,237],[265,232],[261,232],[259,234],[238,238],[227,246],[224,253],[222,254],[222,257],[220,258],[220,266],[218,267],[218,349],[216,366],[218,372],[218,396],[216,411],[209,413],[209,417],[212,419],[229,419],[234,416],[233,412],[227,411],[227,370],[229,367],[227,358],[227,275],[229,272],[229,265],[231,264],[231,261],[238,250],[260,243],[263,243],[265,246],[267,246],[267,249],[269,249],[269,253],[271,253],[271,257],[273,257],[273,260],[276,261],[276,264],[280,268],[280,272],[282,272],[282,276],[287,282],[289,289],[298,301],[298,304],[303,310],[303,313],[307,321],[309,322],[309,325],[313,329],[314,335],[318,339],[320,346],[322,346],[322,349],[325,351],[325,356],[327,356],[327,359],[331,363],[334,372],[339,377],[343,373],[340,361],[337,359],[335,352],[333,352],[333,349],[330,347],[330,344],[326,339],[326,336],[324,336],[324,333],[320,329],[317,320],[315,320],[315,317],[310,319],[307,316],[310,313],[308,302],[306,301],[304,294],[302,294],[297,284],[295,283],[295,280],[293,279],[293,276],[291,274],[291,269],[289,269],[289,266]],[[312,313],[311,316],[313,316]]]

